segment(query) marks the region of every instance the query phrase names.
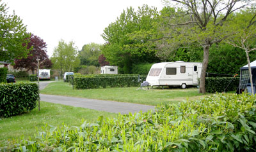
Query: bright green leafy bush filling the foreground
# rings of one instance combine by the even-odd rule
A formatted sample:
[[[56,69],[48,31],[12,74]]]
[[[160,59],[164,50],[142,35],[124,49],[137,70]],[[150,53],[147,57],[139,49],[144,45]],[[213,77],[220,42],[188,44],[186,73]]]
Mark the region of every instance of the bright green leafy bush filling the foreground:
[[[216,94],[81,127],[48,126],[36,141],[0,151],[255,151],[255,99]]]

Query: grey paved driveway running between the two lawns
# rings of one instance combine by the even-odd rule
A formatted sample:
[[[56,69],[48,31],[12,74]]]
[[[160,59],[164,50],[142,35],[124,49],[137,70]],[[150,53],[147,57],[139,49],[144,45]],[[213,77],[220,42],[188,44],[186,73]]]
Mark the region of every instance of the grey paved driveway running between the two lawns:
[[[49,83],[54,81],[42,81],[40,82],[40,90],[45,88]],[[94,109],[98,111],[107,111],[109,113],[121,113],[129,114],[135,112],[146,112],[149,109],[155,109],[155,106],[148,106],[143,104],[132,104],[127,102],[115,102],[109,100],[96,100],[86,99],[79,97],[65,97],[60,95],[45,95],[40,94],[40,100],[45,102],[52,102],[55,104],[64,104],[67,106],[84,107],[88,109]]]

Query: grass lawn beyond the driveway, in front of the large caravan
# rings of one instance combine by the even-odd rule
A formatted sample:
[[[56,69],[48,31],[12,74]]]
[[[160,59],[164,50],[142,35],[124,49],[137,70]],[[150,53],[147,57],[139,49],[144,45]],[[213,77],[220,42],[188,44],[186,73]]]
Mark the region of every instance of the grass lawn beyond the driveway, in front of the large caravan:
[[[164,90],[136,90],[138,87],[126,88],[97,88],[86,90],[72,90],[72,85],[63,81],[49,83],[40,93],[51,95],[64,95],[70,97],[85,97],[89,99],[115,100],[119,102],[132,102],[157,106],[159,104],[194,100],[202,97],[197,88],[165,88]]]

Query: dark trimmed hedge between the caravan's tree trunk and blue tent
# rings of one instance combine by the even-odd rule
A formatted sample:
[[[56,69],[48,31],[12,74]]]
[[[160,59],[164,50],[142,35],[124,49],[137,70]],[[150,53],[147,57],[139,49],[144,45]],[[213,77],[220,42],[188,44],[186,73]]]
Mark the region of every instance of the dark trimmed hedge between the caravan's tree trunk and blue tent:
[[[229,83],[230,85],[228,86]],[[239,86],[239,77],[205,78],[205,91],[209,93],[236,91],[238,86]],[[227,90],[225,90],[225,88],[227,88]]]

